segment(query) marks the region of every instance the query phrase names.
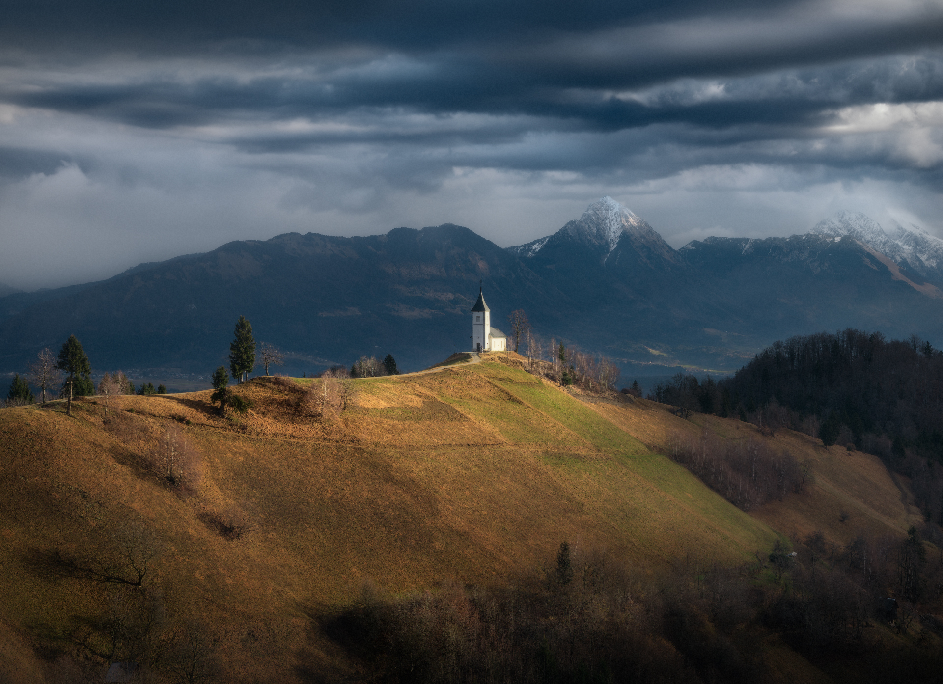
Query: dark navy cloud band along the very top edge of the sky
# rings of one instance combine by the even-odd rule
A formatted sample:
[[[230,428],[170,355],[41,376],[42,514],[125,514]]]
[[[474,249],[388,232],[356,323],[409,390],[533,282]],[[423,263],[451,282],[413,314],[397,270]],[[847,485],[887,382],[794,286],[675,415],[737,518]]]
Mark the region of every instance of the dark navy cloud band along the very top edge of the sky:
[[[0,39],[29,52],[108,52],[130,47],[151,53],[216,51],[230,43],[240,51],[310,49],[350,42],[425,51],[455,42],[481,43],[548,31],[587,31],[630,21],[666,22],[703,14],[747,10],[747,0],[664,0],[627,3],[442,2],[441,0],[337,0],[293,2],[6,3]],[[765,9],[797,5],[773,2]]]

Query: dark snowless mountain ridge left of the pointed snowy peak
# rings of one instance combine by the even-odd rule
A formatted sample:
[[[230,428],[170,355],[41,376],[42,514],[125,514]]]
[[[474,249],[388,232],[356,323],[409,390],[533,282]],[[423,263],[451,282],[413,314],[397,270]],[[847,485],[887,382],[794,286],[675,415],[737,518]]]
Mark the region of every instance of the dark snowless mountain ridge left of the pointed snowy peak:
[[[454,344],[468,345],[479,278],[505,315],[525,308],[553,321],[550,302],[568,301],[537,286],[505,250],[452,224],[237,241],[147,267],[67,289],[3,321],[0,365],[20,368],[35,350],[76,334],[98,369],[209,372],[227,363],[233,325],[245,315],[256,339],[289,352],[299,371],[389,352],[406,368],[428,366]]]

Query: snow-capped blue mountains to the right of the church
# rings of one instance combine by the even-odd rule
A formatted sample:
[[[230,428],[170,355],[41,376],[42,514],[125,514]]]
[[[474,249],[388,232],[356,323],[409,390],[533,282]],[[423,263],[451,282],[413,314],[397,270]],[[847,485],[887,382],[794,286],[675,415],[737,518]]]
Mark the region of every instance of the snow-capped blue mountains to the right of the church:
[[[939,240],[913,235],[928,254],[921,264],[935,263]],[[636,360],[652,345],[681,363],[730,368],[758,339],[862,325],[943,339],[943,293],[863,214],[803,236],[708,237],[676,252],[604,197],[554,235],[508,251],[594,312],[585,335],[604,338],[603,326],[617,355]]]

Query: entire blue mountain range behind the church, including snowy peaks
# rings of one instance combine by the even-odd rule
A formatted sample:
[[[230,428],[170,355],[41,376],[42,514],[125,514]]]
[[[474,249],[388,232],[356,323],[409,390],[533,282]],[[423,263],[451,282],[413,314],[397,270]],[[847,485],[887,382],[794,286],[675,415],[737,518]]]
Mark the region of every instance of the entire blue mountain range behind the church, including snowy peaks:
[[[401,367],[469,345],[483,282],[496,325],[523,309],[538,334],[628,374],[732,370],[777,337],[858,327],[943,338],[943,240],[839,213],[804,235],[708,237],[674,250],[611,198],[553,235],[501,248],[446,223],[365,237],[290,233],[141,264],[106,281],[0,297],[0,370],[76,334],[92,366],[208,373],[235,320],[286,370],[392,353]]]

